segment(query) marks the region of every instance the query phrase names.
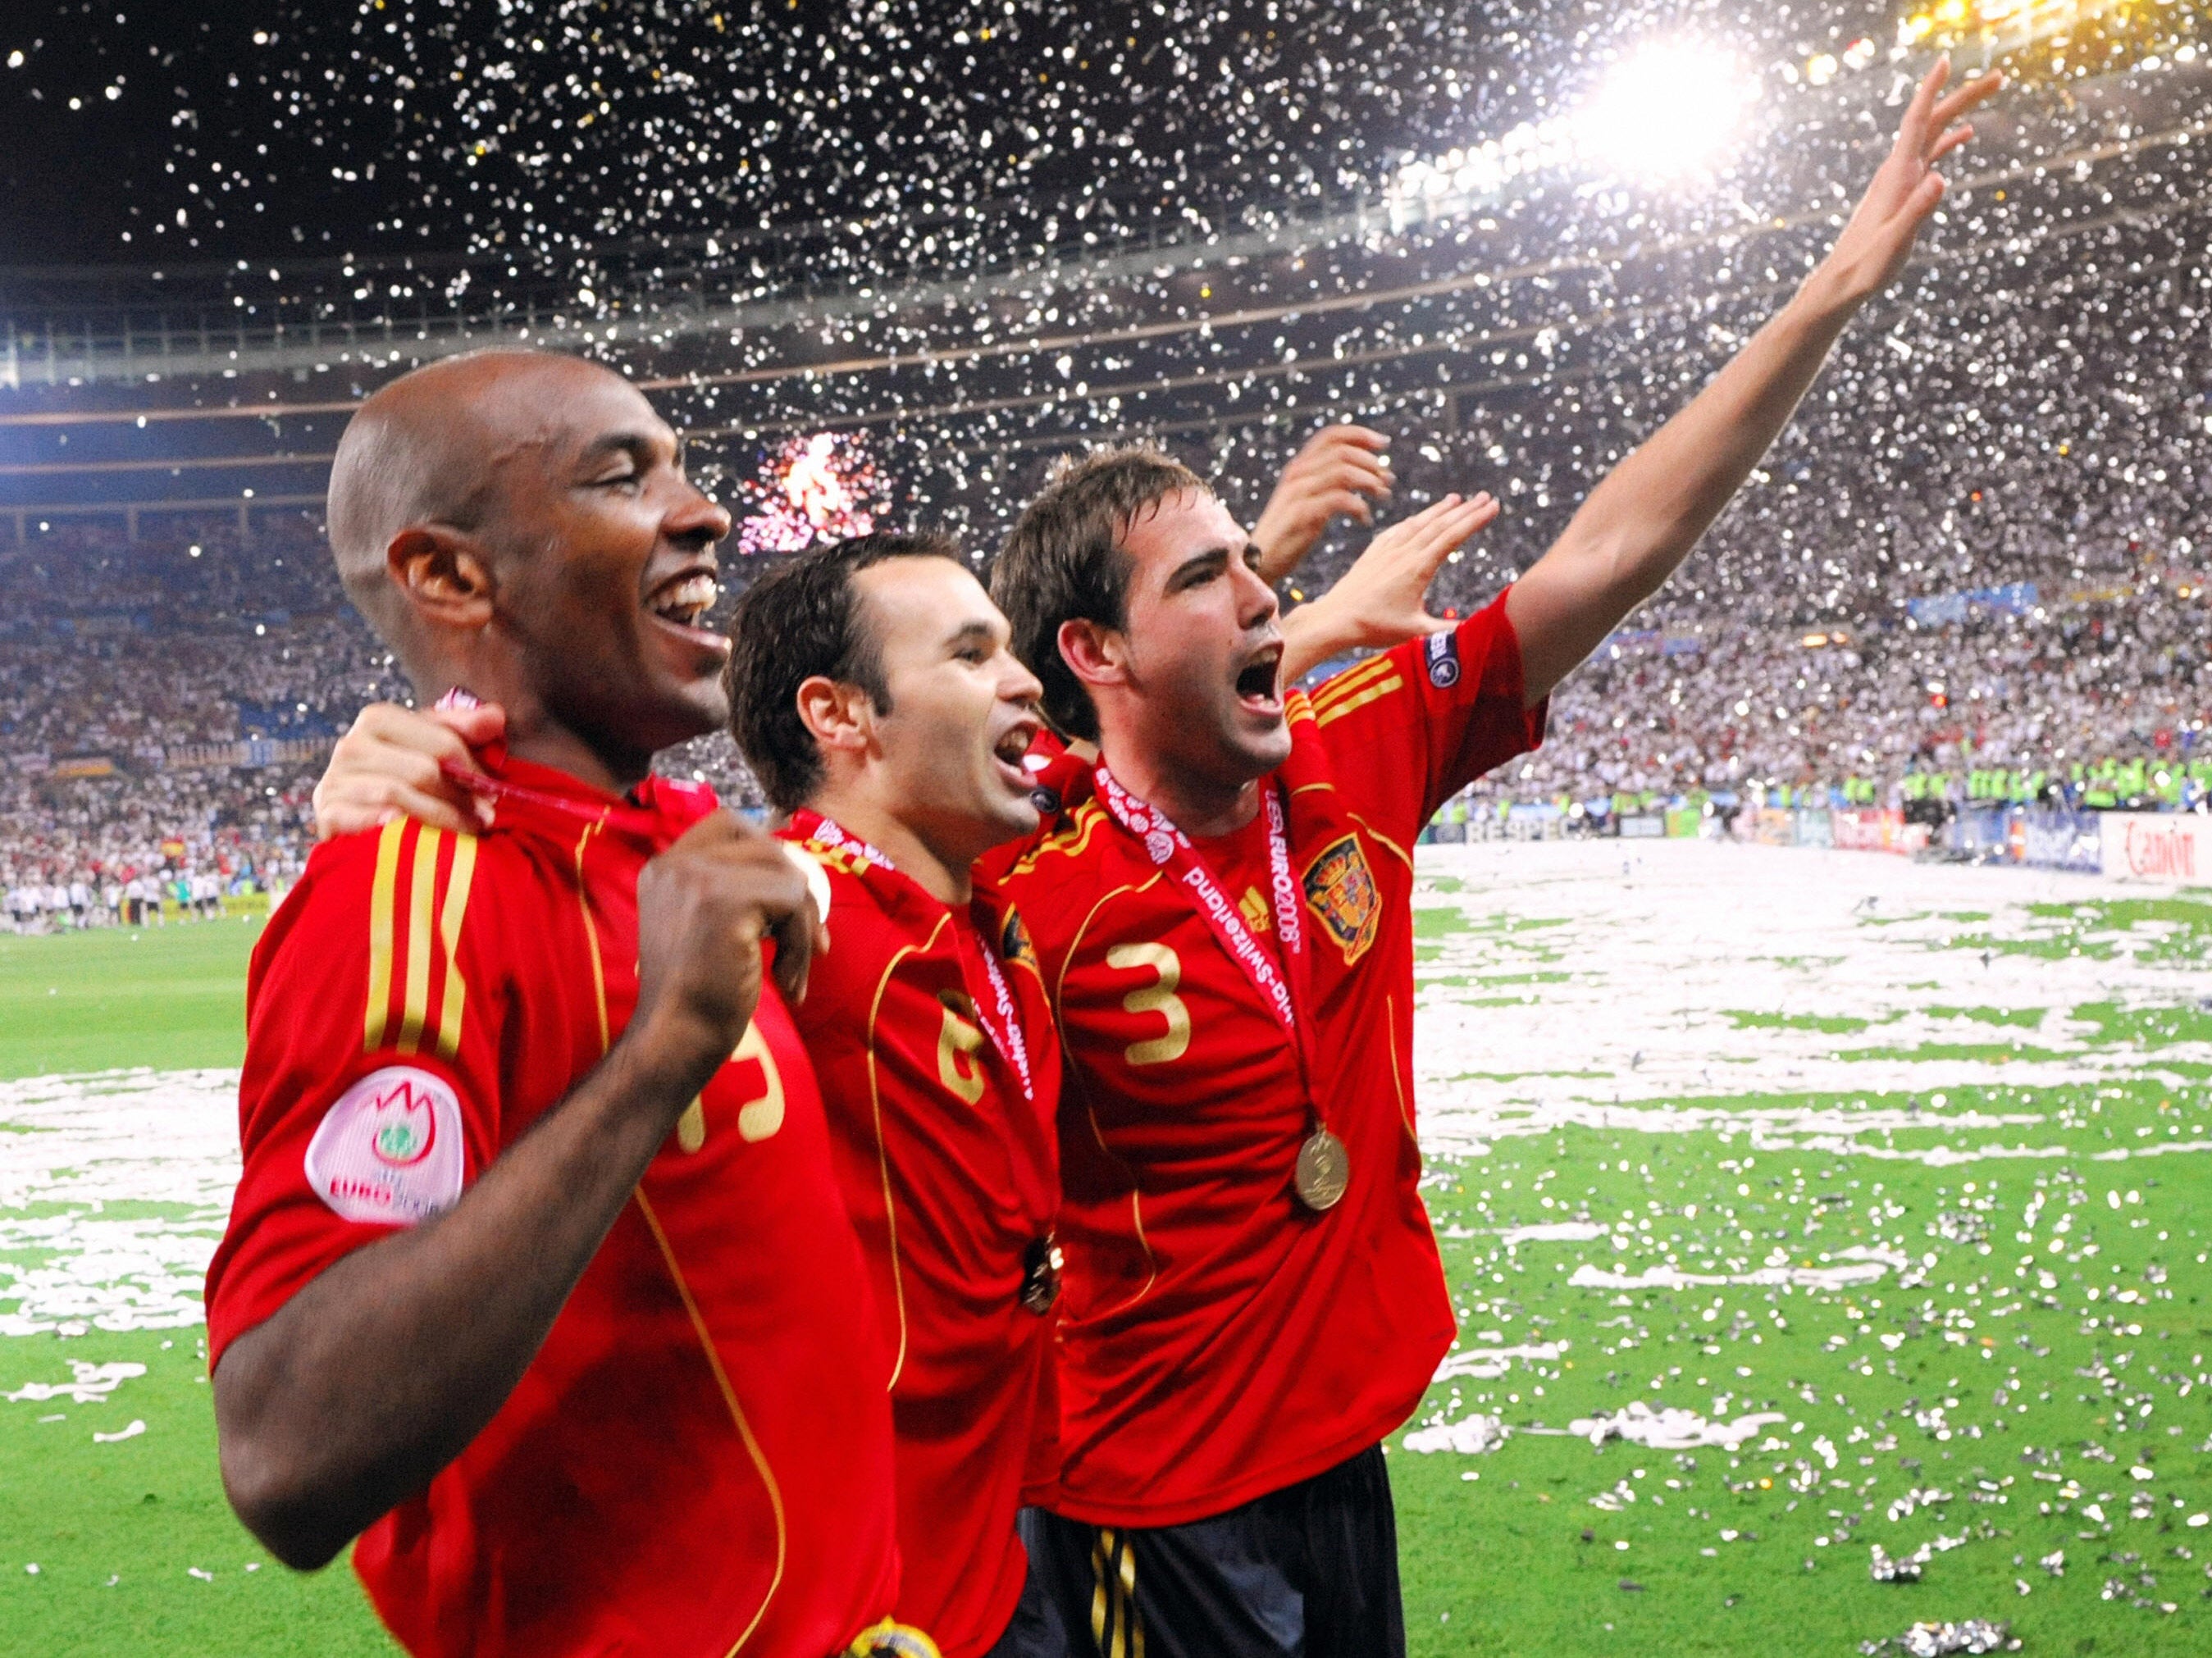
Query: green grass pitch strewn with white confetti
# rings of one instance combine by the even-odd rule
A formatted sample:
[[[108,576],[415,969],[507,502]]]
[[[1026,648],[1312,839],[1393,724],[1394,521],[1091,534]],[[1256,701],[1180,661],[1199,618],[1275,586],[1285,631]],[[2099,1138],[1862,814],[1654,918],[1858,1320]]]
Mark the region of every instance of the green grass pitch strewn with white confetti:
[[[1422,878],[1462,1337],[1409,1430],[1504,1441],[1389,1441],[1413,1654],[1856,1654],[1969,1616],[2212,1649],[2212,902],[1734,847]],[[234,1066],[254,935],[0,940],[0,1077]],[[18,1322],[4,1273],[93,1247],[64,1220],[219,1229],[69,1196],[55,1088],[0,1081]],[[294,1576],[223,1508],[197,1326],[0,1335],[0,1395],[115,1362],[146,1373],[0,1397],[0,1651],[392,1651],[343,1567]],[[1741,1437],[1593,1446],[1630,1402]],[[1924,1576],[1871,1581],[1869,1545]]]

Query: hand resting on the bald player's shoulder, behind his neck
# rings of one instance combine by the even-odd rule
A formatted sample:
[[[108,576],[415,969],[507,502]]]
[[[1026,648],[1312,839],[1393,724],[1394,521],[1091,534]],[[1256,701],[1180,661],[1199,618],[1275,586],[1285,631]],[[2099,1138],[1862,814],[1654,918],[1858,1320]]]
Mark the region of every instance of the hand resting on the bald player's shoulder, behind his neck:
[[[462,772],[482,772],[471,749],[504,732],[507,712],[498,703],[425,712],[369,703],[338,738],[314,785],[316,840],[380,829],[400,818],[456,836],[489,829],[491,802],[453,783],[445,765],[451,760]]]

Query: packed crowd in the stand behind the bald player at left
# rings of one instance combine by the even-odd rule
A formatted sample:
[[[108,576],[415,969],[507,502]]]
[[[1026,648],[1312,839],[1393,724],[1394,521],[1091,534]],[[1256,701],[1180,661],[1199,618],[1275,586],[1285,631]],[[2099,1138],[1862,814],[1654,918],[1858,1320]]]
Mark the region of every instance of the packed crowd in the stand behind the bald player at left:
[[[0,546],[0,926],[217,915],[281,893],[310,791],[369,701],[405,696],[319,531],[119,526]],[[672,756],[759,805],[728,738]]]

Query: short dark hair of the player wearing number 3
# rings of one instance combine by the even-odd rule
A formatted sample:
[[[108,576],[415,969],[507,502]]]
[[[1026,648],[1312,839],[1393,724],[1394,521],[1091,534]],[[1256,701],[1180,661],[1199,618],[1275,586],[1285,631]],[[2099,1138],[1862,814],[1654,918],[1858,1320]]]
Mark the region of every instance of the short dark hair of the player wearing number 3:
[[[1128,626],[1128,526],[1206,480],[1152,444],[1095,449],[1053,464],[991,566],[991,599],[1013,623],[1013,654],[1044,685],[1044,716],[1097,743],[1091,692],[1060,654],[1060,623]]]

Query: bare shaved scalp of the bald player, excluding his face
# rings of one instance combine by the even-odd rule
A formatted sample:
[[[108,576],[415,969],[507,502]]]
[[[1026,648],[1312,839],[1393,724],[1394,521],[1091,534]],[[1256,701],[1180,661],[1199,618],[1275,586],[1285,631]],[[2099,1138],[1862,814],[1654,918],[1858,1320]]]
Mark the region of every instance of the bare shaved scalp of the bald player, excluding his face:
[[[484,531],[513,464],[562,436],[562,407],[611,369],[553,351],[473,351],[403,374],[354,416],[330,466],[330,548],[354,606],[394,646],[405,606],[387,575],[403,531]],[[644,400],[639,398],[639,405]]]

